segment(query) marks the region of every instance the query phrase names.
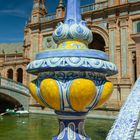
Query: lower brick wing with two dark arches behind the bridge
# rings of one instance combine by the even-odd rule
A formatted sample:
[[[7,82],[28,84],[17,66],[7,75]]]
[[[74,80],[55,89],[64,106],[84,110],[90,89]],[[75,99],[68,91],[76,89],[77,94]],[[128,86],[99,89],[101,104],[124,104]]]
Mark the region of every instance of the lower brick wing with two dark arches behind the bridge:
[[[27,85],[29,62],[24,58],[23,43],[0,44],[0,76]]]

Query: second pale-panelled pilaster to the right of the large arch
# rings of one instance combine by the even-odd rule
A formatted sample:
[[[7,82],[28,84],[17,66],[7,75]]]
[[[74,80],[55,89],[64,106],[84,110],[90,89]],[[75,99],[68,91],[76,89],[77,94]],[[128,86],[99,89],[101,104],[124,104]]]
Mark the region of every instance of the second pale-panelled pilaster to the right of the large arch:
[[[131,80],[130,80],[130,72],[131,62],[130,62],[130,54],[128,50],[128,40],[129,40],[129,32],[128,32],[128,17],[120,17],[119,18],[120,25],[120,90],[121,90],[121,103],[123,104],[126,98],[128,97],[131,89]]]

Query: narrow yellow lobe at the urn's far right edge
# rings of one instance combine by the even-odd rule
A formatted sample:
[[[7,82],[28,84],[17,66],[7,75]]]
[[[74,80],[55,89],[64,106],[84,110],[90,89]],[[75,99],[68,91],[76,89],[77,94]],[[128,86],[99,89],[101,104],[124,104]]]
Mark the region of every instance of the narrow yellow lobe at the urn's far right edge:
[[[111,82],[106,82],[104,84],[100,99],[95,108],[98,108],[101,105],[103,105],[110,98],[112,92],[113,92],[113,84]]]

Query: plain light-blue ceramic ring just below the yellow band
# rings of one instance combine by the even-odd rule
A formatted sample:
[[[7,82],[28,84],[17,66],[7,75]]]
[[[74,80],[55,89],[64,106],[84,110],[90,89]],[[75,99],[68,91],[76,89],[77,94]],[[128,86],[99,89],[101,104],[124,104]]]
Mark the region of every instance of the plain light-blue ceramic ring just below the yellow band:
[[[36,55],[37,60],[50,57],[88,57],[106,61],[109,60],[108,55],[105,52],[91,49],[48,50],[40,52]]]

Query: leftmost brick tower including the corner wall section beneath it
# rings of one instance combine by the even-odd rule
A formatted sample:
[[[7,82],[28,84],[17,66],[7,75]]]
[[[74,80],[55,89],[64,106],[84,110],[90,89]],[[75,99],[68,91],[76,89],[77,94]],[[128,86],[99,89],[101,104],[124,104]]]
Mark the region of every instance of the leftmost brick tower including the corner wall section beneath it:
[[[24,29],[24,56],[31,60],[41,50],[40,25],[46,22],[46,15],[45,0],[33,0],[32,14]]]

